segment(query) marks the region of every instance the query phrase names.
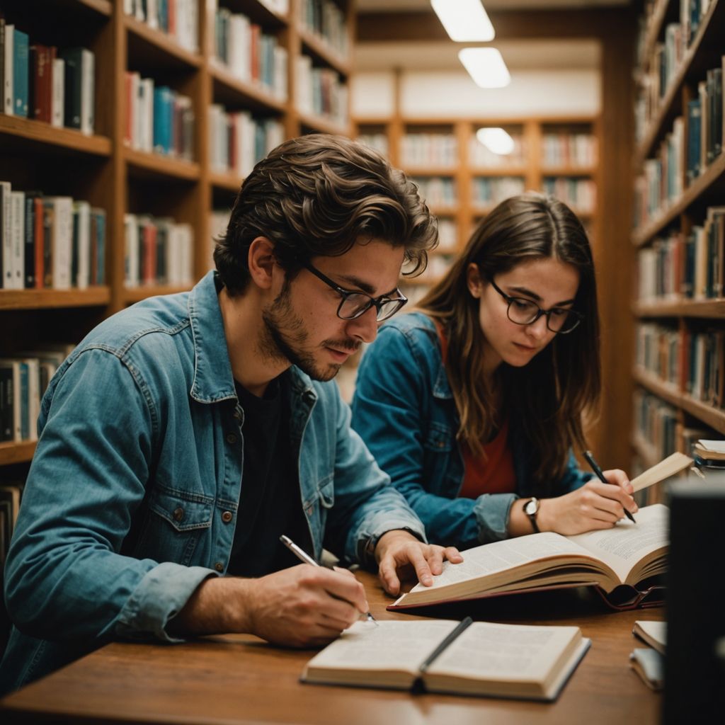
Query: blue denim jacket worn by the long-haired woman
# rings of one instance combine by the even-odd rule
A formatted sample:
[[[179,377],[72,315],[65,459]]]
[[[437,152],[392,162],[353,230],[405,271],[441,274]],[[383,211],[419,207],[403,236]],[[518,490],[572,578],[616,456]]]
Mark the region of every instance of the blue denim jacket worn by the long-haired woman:
[[[459,417],[433,320],[411,312],[386,323],[357,372],[352,427],[436,544],[468,548],[505,539],[516,498],[564,494],[591,478],[570,455],[560,481],[545,490],[534,486],[531,447],[517,425],[526,411],[508,410],[508,415],[515,494],[457,498],[465,473],[456,441]]]

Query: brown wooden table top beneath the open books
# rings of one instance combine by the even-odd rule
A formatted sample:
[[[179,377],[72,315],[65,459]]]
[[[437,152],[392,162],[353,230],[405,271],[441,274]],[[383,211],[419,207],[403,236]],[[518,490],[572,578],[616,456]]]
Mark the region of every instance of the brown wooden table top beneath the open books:
[[[410,618],[385,607],[377,579],[357,576],[376,618]],[[431,610],[428,610],[430,612]],[[577,624],[592,647],[555,703],[301,684],[312,650],[285,650],[256,637],[205,637],[183,645],[116,642],[0,701],[0,721],[183,724],[610,725],[659,721],[660,697],[629,668],[644,646],[635,619],[663,610],[613,612],[581,590],[518,595],[437,608],[435,616],[526,624]],[[533,616],[532,616],[533,615]]]

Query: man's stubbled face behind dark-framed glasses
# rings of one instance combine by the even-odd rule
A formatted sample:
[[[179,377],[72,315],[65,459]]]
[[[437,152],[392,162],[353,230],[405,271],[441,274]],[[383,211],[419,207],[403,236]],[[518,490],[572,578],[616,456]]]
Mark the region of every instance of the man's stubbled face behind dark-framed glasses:
[[[384,241],[355,244],[339,257],[314,257],[311,261],[334,283],[347,291],[370,297],[395,296],[404,250]],[[262,311],[265,336],[262,355],[297,365],[313,380],[331,380],[341,365],[363,342],[378,334],[376,308],[355,320],[341,320],[338,292],[303,268],[293,281],[285,281],[271,305]]]

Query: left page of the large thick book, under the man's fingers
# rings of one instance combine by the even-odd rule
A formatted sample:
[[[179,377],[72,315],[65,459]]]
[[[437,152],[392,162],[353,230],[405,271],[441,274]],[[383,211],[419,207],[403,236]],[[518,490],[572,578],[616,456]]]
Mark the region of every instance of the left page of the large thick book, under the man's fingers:
[[[508,571],[515,566],[539,559],[564,555],[591,557],[592,552],[582,549],[569,537],[563,537],[553,531],[544,531],[542,534],[529,534],[525,537],[482,544],[479,547],[465,550],[462,555],[463,563],[452,564],[444,561],[443,571],[438,576],[434,576],[431,587],[416,584],[411,591],[426,592],[447,587],[458,581],[468,581],[480,576]]]

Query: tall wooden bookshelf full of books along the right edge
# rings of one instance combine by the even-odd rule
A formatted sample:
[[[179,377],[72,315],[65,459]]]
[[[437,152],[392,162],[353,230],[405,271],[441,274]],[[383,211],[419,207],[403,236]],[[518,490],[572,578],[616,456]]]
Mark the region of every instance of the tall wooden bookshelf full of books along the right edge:
[[[705,5],[653,1],[640,24],[631,446],[642,467],[725,437],[725,2]]]

